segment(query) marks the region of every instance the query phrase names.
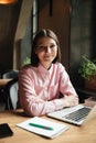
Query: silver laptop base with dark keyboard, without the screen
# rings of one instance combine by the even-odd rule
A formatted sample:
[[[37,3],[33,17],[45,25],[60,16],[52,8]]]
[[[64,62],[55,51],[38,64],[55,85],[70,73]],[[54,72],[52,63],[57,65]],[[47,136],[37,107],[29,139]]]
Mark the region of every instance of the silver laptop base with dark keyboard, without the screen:
[[[47,113],[46,116],[76,125],[82,125],[86,117],[90,112],[90,110],[92,107],[77,105],[74,107],[68,107],[68,108],[61,109],[58,111]]]

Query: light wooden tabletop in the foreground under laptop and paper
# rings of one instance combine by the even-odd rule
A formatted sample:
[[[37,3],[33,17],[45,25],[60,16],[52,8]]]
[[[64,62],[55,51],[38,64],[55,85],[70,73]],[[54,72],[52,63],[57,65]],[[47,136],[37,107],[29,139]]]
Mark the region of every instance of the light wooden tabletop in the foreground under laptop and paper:
[[[0,139],[0,143],[96,143],[96,108],[92,118],[82,127],[76,127],[46,117],[42,118],[54,122],[61,122],[68,125],[70,129],[53,140],[45,139],[15,125],[17,123],[30,119],[24,114],[23,110],[0,112],[0,123],[9,123],[14,132],[13,136]]]

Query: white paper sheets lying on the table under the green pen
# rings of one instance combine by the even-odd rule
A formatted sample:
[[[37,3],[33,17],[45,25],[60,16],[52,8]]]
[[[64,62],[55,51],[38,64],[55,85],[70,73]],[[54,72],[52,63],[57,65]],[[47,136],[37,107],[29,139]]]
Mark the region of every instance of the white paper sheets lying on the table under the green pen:
[[[50,127],[50,128],[53,128],[53,130],[46,130],[42,128],[32,127],[29,123],[36,123],[44,127]],[[46,138],[51,138],[51,139],[56,138],[58,134],[61,134],[62,132],[68,129],[68,127],[62,123],[52,122],[52,121],[49,121],[46,119],[42,119],[39,117],[31,118],[30,120],[18,123],[17,125],[30,132],[33,132],[33,133],[36,133]]]

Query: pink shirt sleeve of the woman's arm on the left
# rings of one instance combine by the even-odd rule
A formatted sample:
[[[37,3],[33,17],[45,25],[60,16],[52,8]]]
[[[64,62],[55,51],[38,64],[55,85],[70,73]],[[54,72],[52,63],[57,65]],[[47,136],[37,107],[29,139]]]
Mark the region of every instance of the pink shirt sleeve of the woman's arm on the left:
[[[31,117],[43,116],[64,107],[63,99],[41,101],[35,94],[34,80],[30,69],[21,69],[19,73],[19,97],[21,107],[24,109],[25,113]]]

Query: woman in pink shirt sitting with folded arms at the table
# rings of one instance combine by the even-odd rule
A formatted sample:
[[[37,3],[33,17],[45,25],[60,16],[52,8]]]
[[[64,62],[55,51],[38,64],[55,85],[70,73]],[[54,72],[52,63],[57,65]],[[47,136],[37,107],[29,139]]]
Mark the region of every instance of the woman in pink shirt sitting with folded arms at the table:
[[[20,103],[28,116],[43,116],[78,103],[78,96],[60,62],[57,36],[51,30],[41,30],[33,40],[31,64],[19,73]]]

